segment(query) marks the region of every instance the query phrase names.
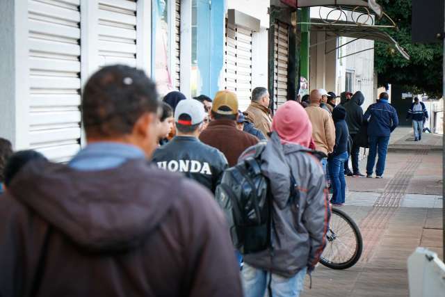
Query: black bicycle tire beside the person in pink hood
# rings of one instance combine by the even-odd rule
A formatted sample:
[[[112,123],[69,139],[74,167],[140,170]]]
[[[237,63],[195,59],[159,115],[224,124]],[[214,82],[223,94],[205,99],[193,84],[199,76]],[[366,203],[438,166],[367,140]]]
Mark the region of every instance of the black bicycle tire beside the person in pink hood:
[[[343,220],[345,220],[346,223],[348,223],[348,225],[351,227],[351,229],[354,232],[355,241],[357,243],[357,248],[355,248],[355,252],[354,252],[353,256],[350,257],[350,259],[348,259],[345,262],[334,263],[328,259],[325,259],[322,254],[322,257],[320,257],[320,263],[323,264],[324,266],[326,266],[328,268],[332,268],[332,269],[350,268],[350,267],[354,266],[359,261],[360,257],[362,256],[362,250],[363,250],[362,234],[360,233],[359,227],[354,222],[354,220],[350,216],[348,216],[348,214],[346,214],[344,211],[341,211],[337,207],[333,207],[332,215],[337,215],[340,218],[342,218]]]

